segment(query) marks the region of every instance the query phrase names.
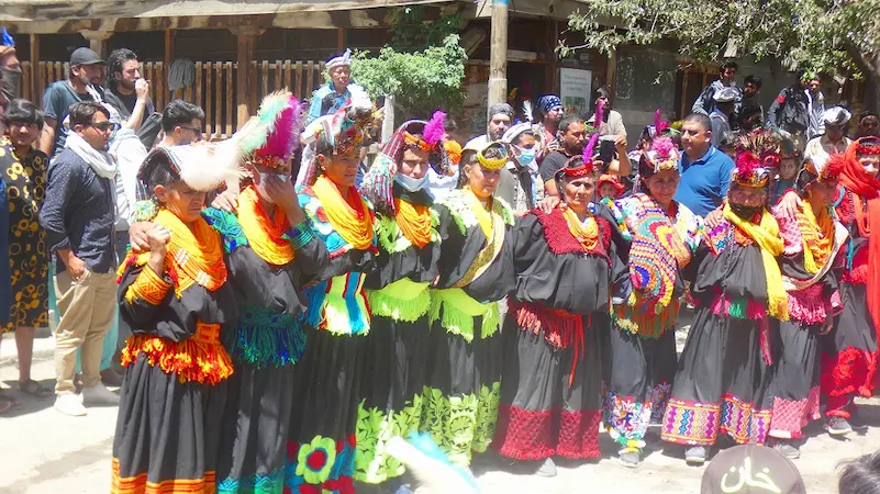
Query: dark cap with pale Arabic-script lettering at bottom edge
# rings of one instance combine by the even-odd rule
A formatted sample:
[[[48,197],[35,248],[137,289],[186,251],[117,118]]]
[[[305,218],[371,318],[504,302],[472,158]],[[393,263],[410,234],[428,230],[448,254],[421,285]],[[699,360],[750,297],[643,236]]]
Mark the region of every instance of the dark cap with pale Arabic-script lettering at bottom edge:
[[[701,494],[806,494],[798,467],[766,446],[739,445],[715,454]]]

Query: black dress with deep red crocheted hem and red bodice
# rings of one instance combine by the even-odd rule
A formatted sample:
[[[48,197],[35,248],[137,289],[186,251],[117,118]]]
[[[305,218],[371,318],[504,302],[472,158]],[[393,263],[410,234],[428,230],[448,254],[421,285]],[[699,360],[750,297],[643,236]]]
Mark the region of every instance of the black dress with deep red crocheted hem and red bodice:
[[[611,226],[586,250],[559,209],[513,231],[515,295],[504,319],[504,373],[492,448],[516,460],[598,458],[599,334],[609,329]]]

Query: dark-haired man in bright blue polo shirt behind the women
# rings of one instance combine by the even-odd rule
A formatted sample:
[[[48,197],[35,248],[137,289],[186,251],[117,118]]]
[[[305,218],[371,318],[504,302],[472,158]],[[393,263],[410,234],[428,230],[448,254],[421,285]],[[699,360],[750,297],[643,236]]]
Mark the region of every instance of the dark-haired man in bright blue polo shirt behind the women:
[[[681,127],[681,181],[676,201],[705,217],[721,205],[731,187],[733,160],[712,146],[712,124],[709,117],[692,113]]]

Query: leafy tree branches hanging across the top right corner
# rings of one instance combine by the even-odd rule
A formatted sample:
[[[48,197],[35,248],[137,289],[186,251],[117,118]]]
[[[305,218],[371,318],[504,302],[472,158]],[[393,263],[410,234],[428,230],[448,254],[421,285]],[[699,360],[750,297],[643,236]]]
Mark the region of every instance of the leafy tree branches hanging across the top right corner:
[[[580,0],[568,20],[584,33],[579,48],[604,54],[626,44],[679,42],[683,57],[719,60],[725,53],[773,57],[807,71],[868,80],[866,104],[880,106],[880,1],[878,0]],[[609,20],[619,27],[609,27]],[[604,24],[604,25],[603,25]]]

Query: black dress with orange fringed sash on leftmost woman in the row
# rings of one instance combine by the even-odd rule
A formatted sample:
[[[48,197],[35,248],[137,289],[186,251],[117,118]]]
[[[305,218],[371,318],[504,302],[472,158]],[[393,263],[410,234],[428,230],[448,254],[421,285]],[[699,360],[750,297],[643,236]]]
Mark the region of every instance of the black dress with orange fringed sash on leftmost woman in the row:
[[[216,235],[222,251],[216,232],[200,231]],[[155,273],[146,258],[130,255],[119,279],[120,319],[132,336],[122,356],[111,492],[214,492],[221,439],[234,434],[222,425],[233,369],[221,340],[237,318],[235,296],[229,283],[181,285],[179,267]]]

